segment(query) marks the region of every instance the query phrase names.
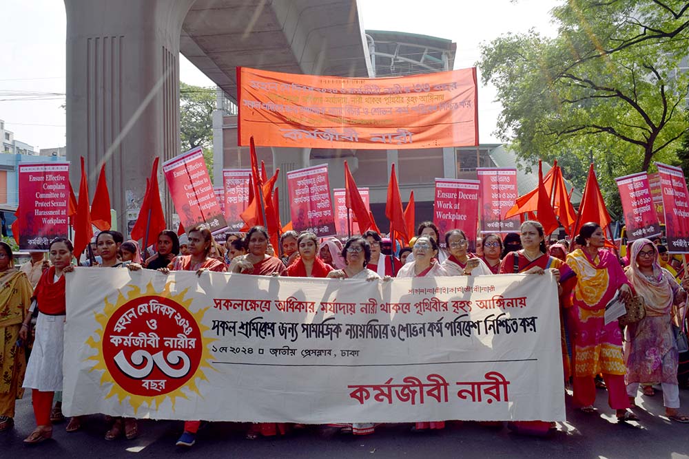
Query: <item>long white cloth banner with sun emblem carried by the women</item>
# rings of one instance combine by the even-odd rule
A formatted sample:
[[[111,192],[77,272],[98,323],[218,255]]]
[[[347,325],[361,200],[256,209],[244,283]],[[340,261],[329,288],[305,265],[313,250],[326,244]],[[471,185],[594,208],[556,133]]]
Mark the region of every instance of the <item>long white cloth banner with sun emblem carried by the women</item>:
[[[76,268],[67,276],[68,416],[565,419],[550,274],[367,282]]]

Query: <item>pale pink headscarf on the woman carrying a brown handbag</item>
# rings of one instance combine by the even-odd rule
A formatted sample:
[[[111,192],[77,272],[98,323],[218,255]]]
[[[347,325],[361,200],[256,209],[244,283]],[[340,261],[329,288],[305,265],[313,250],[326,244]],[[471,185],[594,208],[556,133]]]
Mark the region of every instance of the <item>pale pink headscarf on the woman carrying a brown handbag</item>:
[[[649,279],[642,274],[637,264],[637,257],[641,249],[650,245],[653,248],[653,275]],[[631,281],[637,295],[644,297],[644,307],[649,316],[662,316],[672,309],[672,287],[658,263],[658,249],[650,239],[637,239],[632,244],[632,255],[625,274]]]

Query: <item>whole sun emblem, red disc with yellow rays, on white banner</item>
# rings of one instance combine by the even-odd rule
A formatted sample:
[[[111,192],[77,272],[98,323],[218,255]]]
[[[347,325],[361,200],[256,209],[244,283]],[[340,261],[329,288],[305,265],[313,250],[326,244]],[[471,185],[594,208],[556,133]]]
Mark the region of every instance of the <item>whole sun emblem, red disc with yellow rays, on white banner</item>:
[[[169,398],[174,410],[177,398],[201,396],[196,384],[208,381],[204,369],[212,369],[209,344],[216,339],[203,337],[210,329],[202,323],[209,308],[191,312],[188,289],[173,295],[171,285],[162,292],[152,283],[145,291],[130,286],[126,296],[119,290],[115,303],[105,298],[103,311],[94,312],[101,328],[86,341],[96,350],[86,359],[94,361],[90,372],[103,372],[101,386],[110,385],[105,398],[128,398],[135,414],[143,403],[158,409]]]

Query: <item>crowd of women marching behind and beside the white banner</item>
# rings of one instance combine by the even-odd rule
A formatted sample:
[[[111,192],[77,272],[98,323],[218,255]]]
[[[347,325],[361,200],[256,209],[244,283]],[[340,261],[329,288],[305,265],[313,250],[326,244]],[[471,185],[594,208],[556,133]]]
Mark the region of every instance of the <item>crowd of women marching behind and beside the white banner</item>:
[[[584,224],[573,241],[561,240],[548,247],[542,225],[527,221],[519,234],[504,239],[497,234],[483,235],[473,253],[469,245],[462,231],[452,230],[441,237],[433,223],[424,222],[410,245],[398,251],[399,258],[393,255],[392,242],[375,231],[345,242],[334,237],[319,241],[313,233],[288,231],[280,237],[278,254],[261,226],[251,228],[246,235],[227,235],[225,244],[218,244],[207,229],[196,227],[179,238],[174,231],[162,231],[154,253],[142,259],[136,242],[125,242],[116,231],[103,231],[94,239],[97,256],[84,260],[81,266],[145,268],[163,274],[189,270],[202,275],[209,270],[368,281],[508,273],[543,275],[550,271],[559,297],[564,384],[571,384],[575,405],[584,413],[595,414],[596,387],[606,387],[608,403],[616,410],[617,419],[638,421],[631,409],[636,407],[639,388],[651,396],[654,385],[659,385],[665,416],[689,423],[689,418],[679,412],[679,349],[673,330],[673,325],[677,327],[686,320],[689,276],[683,275],[678,282],[662,266],[654,242],[637,239],[622,260],[606,246],[603,231],[595,223]],[[72,243],[55,239],[49,255],[50,261],[35,255],[19,270],[12,262],[10,246],[0,242],[0,431],[13,427],[15,400],[21,398],[25,388],[31,389],[37,427],[24,440],[28,444],[51,438],[53,424],[64,419],[59,401],[65,312],[69,308],[65,304],[64,273],[74,269]],[[646,317],[624,329],[617,321],[606,323],[605,308],[614,297],[641,301]],[[88,418],[72,417],[66,429],[79,431],[85,422]],[[109,418],[108,422],[106,440],[138,435],[135,419]],[[194,445],[200,424],[200,420],[187,420],[177,445]],[[256,439],[283,435],[294,427],[255,423],[246,436]],[[510,427],[526,434],[546,434],[553,425],[528,421]],[[376,426],[355,423],[322,428],[372,434]],[[419,422],[411,428],[442,429],[444,423]]]

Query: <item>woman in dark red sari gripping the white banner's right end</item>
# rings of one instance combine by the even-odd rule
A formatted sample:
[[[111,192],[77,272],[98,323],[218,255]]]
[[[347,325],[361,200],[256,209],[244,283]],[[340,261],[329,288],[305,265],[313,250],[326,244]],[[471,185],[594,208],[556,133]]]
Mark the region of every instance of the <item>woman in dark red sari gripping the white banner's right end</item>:
[[[560,308],[560,343],[562,345],[562,363],[564,378],[569,379],[569,354],[562,321],[563,310],[571,306],[570,295],[577,284],[577,275],[564,261],[546,253],[545,232],[543,225],[533,220],[522,223],[520,228],[522,249],[508,253],[500,264],[500,274],[522,273],[543,275],[549,270],[557,282],[557,295]],[[551,428],[551,423],[544,421],[515,422],[511,426],[523,434],[544,435]]]

